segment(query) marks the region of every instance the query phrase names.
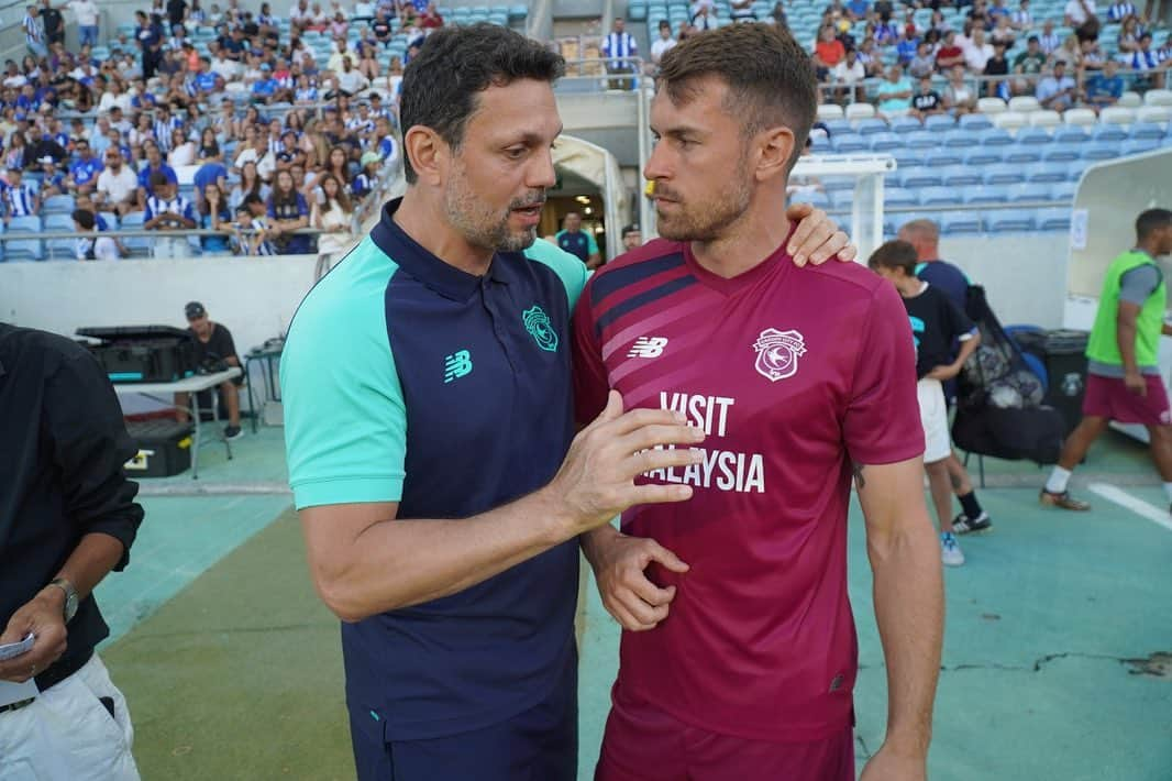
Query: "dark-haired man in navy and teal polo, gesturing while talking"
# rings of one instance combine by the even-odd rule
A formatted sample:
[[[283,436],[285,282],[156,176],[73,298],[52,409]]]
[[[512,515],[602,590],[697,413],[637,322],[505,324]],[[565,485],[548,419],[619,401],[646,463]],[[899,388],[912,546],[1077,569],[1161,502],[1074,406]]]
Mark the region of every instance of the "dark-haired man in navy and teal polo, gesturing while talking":
[[[577,773],[580,532],[695,463],[666,410],[574,436],[581,263],[534,243],[560,56],[499,26],[432,33],[403,81],[407,195],[306,297],[281,361],[311,572],[345,622],[359,777]],[[810,210],[788,215],[798,219]],[[802,252],[843,249],[824,216]],[[827,242],[827,239],[830,239]]]

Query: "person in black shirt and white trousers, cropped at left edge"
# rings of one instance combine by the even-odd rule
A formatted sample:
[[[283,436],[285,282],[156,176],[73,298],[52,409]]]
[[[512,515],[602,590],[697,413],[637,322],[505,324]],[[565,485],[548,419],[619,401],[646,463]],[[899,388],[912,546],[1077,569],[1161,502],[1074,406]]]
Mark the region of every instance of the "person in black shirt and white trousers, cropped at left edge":
[[[91,592],[143,519],[122,408],[82,346],[0,324],[0,779],[137,780],[125,699],[94,651],[110,630]]]

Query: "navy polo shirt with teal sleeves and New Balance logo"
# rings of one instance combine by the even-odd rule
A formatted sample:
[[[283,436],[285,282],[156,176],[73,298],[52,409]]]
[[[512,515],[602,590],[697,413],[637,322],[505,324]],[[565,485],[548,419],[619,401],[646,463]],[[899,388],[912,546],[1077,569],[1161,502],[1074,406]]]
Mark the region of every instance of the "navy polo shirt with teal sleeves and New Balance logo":
[[[570,314],[585,266],[538,240],[475,277],[383,209],[306,296],[281,359],[298,509],[398,502],[464,518],[546,484],[574,434]],[[342,625],[352,719],[387,740],[479,729],[546,698],[575,664],[578,546]]]

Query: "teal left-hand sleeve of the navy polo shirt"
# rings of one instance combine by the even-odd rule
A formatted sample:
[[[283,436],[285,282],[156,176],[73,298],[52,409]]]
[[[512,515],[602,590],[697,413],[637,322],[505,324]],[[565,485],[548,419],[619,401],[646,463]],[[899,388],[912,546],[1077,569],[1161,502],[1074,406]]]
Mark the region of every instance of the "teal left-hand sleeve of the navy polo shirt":
[[[383,304],[394,270],[368,238],[293,319],[280,374],[299,510],[402,498],[407,412]]]

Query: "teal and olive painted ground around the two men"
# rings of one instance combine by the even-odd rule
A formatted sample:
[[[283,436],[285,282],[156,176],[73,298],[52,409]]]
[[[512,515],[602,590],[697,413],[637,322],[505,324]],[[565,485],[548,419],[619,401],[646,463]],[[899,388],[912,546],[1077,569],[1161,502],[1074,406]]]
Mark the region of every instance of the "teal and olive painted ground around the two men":
[[[226,490],[240,475],[280,478],[272,454],[279,433],[243,443],[251,447],[238,448],[233,462],[209,457],[200,489]],[[1109,442],[1086,471],[1127,482],[1144,468],[1137,450]],[[178,480],[164,484],[182,488]],[[1166,507],[1158,487],[1127,493]],[[1069,515],[1038,508],[1033,488],[982,491],[996,531],[965,539],[968,565],[947,572],[934,780],[1172,779],[1172,677],[1140,674],[1134,661],[1172,653],[1172,531],[1088,498],[1092,512]],[[100,589],[121,636],[103,657],[130,702],[143,777],[353,777],[338,623],[309,585],[288,497],[143,503],[131,566]],[[886,713],[861,532],[856,509],[860,768],[881,742]],[[590,779],[618,629],[592,582],[584,596],[580,777]]]

